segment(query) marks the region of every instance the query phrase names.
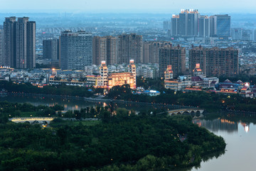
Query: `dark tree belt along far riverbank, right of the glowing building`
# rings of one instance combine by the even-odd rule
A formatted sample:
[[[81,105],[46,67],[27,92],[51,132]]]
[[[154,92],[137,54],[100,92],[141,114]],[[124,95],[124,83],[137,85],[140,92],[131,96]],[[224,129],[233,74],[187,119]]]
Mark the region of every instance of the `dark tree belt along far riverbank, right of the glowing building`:
[[[239,94],[224,95],[215,94],[215,92],[174,92],[166,89],[159,96],[147,96],[144,94],[132,94],[129,85],[113,87],[110,94],[111,99],[123,99],[127,101],[139,101],[160,104],[177,104],[183,106],[198,106],[206,109],[207,112],[216,112],[220,110],[235,111],[256,111],[256,99],[244,98]]]

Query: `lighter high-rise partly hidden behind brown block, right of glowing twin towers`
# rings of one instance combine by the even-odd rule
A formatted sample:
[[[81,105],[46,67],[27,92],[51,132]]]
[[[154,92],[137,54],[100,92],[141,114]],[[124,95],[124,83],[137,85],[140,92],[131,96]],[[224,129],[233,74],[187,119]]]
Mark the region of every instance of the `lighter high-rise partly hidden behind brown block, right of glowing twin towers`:
[[[143,43],[143,63],[159,64],[159,48],[171,42],[147,41]]]

